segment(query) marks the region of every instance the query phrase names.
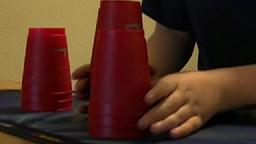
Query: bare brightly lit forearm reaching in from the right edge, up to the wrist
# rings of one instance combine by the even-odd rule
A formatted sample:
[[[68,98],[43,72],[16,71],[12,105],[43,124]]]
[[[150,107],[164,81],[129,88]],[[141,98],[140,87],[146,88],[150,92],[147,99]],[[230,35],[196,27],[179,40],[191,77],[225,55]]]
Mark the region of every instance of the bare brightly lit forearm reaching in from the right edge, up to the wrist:
[[[219,111],[256,105],[256,64],[208,71],[222,89]]]

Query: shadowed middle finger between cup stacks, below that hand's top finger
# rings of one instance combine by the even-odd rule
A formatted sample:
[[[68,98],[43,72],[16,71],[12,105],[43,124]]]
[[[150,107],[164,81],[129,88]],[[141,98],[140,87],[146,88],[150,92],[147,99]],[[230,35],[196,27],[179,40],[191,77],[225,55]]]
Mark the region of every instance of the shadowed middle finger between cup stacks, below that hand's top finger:
[[[76,82],[76,96],[77,100],[88,100],[90,96],[90,80],[87,78],[80,79]]]

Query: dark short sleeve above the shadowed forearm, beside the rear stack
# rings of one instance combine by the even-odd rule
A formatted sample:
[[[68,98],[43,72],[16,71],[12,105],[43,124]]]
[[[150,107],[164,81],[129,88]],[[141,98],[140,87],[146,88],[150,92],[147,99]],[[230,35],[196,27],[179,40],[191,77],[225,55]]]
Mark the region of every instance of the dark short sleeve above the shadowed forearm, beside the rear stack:
[[[168,28],[188,31],[190,27],[184,0],[143,0],[142,12]]]

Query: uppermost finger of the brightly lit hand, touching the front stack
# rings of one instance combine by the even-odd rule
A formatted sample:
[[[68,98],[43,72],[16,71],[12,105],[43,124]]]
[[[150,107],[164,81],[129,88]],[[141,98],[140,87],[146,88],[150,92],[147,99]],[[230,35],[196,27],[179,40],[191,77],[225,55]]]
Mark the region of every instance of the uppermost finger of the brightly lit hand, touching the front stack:
[[[165,76],[146,94],[145,102],[154,104],[165,96],[172,94],[177,86],[177,82],[171,76]]]

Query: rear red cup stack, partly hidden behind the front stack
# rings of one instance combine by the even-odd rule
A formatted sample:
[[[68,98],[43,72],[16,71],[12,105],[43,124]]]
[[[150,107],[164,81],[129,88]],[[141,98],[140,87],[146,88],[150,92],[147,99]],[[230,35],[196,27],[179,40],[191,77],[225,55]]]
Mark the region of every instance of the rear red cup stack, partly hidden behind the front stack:
[[[94,35],[91,66],[98,30],[143,30],[140,2],[104,0],[100,2]]]

